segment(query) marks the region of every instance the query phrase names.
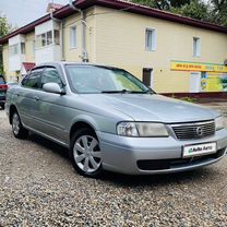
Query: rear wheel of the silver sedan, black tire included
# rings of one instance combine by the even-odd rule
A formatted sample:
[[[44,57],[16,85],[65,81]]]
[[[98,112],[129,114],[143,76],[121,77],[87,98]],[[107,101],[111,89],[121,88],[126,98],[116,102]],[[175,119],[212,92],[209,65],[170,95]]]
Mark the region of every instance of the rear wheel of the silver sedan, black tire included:
[[[12,131],[16,139],[26,139],[28,136],[28,130],[22,126],[17,111],[14,111],[12,116]]]

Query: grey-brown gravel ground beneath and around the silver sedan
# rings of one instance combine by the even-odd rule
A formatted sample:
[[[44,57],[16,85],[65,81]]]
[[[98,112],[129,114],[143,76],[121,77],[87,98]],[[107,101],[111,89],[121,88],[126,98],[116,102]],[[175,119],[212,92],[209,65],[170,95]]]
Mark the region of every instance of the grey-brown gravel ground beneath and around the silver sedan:
[[[227,108],[222,109],[227,113]],[[227,116],[227,115],[226,115]],[[0,110],[0,227],[227,226],[227,158],[177,175],[75,174],[67,151],[13,138]]]

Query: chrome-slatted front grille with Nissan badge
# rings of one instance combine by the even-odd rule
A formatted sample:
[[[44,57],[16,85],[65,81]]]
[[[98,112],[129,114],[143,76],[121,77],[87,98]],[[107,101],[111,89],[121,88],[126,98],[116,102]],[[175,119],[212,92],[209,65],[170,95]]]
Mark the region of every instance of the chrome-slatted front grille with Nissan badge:
[[[196,140],[214,135],[215,122],[206,121],[191,124],[171,126],[178,140]]]

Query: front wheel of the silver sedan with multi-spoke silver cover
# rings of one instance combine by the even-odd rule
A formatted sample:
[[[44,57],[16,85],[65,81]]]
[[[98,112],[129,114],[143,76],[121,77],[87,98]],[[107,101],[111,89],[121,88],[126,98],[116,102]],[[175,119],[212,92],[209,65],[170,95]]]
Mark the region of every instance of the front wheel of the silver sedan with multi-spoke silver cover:
[[[87,141],[87,145],[88,145],[87,151],[86,151],[86,148],[84,148],[85,147],[84,141],[83,141],[84,138],[86,138],[86,141]],[[82,142],[80,144],[80,147],[83,148],[83,152],[81,152],[80,150],[76,150],[79,142]],[[94,146],[96,143],[97,143],[97,145]],[[92,146],[94,146],[94,148],[92,148]],[[79,153],[81,153],[81,154],[79,155]],[[97,157],[97,155],[99,157]],[[82,156],[84,156],[84,158],[81,159],[81,162],[75,160],[76,157],[80,158]],[[89,158],[93,158],[93,159],[89,159]],[[87,160],[87,163],[88,163],[87,170],[85,167],[85,166],[87,166],[87,165],[85,165],[86,159],[88,159]],[[84,129],[80,129],[79,131],[76,131],[73,134],[73,136],[71,138],[71,142],[70,142],[70,160],[71,160],[73,167],[75,168],[75,170],[82,176],[89,177],[89,178],[98,178],[101,176],[101,174],[103,174],[101,152],[100,152],[98,139],[93,130],[91,130],[88,128],[84,128]],[[95,160],[95,163],[94,163],[94,160]],[[97,164],[97,169],[94,167],[94,164]]]

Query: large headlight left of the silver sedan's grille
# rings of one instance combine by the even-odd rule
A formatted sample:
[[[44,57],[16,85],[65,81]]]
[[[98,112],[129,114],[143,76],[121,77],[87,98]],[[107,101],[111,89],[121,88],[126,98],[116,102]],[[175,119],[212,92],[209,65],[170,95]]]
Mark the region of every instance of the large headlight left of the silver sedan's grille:
[[[120,122],[117,133],[134,138],[166,138],[168,132],[164,123]]]

